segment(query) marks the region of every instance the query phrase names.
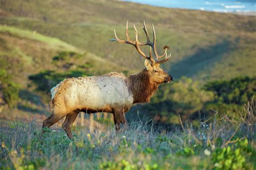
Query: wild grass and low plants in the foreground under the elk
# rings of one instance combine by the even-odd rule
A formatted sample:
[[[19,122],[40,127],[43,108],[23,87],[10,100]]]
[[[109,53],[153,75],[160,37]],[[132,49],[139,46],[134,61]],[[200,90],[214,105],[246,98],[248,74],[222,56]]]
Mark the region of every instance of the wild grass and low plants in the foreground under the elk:
[[[35,122],[1,122],[1,169],[255,169],[255,108],[239,117],[200,119],[164,130],[145,120],[116,133],[112,126],[42,133]]]

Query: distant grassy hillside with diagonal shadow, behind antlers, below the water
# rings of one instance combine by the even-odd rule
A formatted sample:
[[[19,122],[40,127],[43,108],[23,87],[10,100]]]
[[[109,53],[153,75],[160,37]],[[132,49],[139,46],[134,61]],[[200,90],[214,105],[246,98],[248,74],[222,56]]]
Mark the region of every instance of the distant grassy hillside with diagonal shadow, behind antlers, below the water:
[[[145,20],[148,29],[151,23],[156,28],[158,51],[164,45],[171,47],[173,58],[163,67],[176,78],[185,75],[205,82],[256,73],[253,16],[119,1],[0,1],[0,6],[1,24],[59,38],[130,69],[143,68],[137,51],[108,40],[113,37],[113,29],[124,38],[126,20],[130,22],[130,37],[135,23],[143,39]]]

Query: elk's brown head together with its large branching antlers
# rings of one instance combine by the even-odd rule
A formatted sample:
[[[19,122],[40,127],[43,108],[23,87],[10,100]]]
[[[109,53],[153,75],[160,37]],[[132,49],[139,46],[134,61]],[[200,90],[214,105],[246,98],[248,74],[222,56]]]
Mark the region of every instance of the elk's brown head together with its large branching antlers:
[[[139,54],[142,55],[144,58],[146,58],[146,60],[144,62],[144,65],[146,67],[146,71],[147,71],[147,74],[150,77],[151,82],[158,83],[158,84],[165,83],[165,82],[169,82],[169,83],[172,82],[173,77],[171,75],[167,74],[163,69],[160,68],[161,63],[164,63],[165,61],[170,59],[171,53],[170,53],[170,55],[167,55],[167,49],[169,49],[169,47],[165,46],[164,47],[164,50],[165,50],[164,53],[162,55],[158,55],[157,50],[156,50],[156,32],[154,31],[154,25],[152,24],[153,42],[150,41],[149,32],[147,32],[145,21],[144,21],[143,30],[146,34],[146,38],[147,38],[146,42],[139,42],[139,40],[138,40],[138,31],[137,31],[135,25],[133,25],[133,26],[134,26],[134,31],[135,31],[135,41],[132,41],[129,38],[129,35],[128,35],[128,21],[126,22],[126,30],[125,30],[126,40],[120,40],[119,38],[117,38],[116,31],[114,30],[114,38],[111,39],[110,41],[117,41],[117,42],[120,42],[120,43],[126,43],[126,44],[133,45],[137,49]],[[145,45],[150,46],[150,54],[149,55],[145,54],[140,49],[140,46],[145,46]],[[151,52],[152,49],[153,49],[153,53],[154,53],[154,56],[155,56],[156,60],[153,59],[153,57],[152,57],[152,52]],[[163,57],[165,57],[165,58],[160,60]]]

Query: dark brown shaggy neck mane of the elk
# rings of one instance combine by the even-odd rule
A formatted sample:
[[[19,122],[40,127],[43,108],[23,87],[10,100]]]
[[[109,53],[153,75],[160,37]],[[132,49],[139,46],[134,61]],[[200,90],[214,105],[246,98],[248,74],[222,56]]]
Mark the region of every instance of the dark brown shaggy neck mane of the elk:
[[[158,83],[150,83],[146,69],[128,78],[128,86],[133,95],[133,103],[148,103],[158,89]]]

